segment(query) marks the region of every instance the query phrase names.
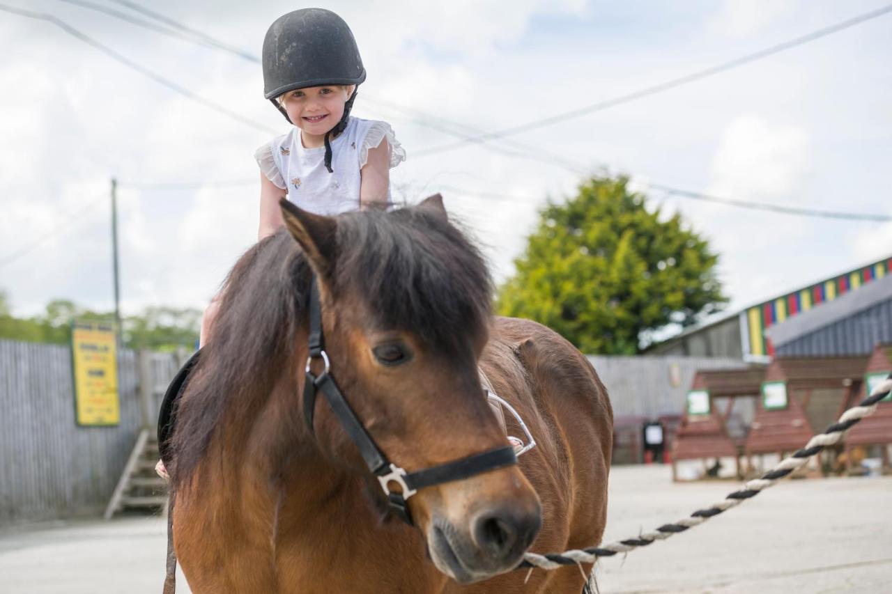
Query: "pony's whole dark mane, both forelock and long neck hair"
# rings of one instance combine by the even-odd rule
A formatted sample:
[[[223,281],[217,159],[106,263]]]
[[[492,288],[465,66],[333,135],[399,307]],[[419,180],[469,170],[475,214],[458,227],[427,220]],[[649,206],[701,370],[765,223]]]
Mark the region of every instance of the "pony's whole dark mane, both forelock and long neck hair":
[[[172,439],[175,483],[186,480],[226,415],[260,407],[282,374],[296,377],[294,337],[306,324],[310,265],[285,229],[236,262],[222,290],[212,340],[178,407]],[[333,298],[368,297],[381,328],[416,334],[458,352],[485,331],[491,278],[467,237],[429,206],[337,217]]]

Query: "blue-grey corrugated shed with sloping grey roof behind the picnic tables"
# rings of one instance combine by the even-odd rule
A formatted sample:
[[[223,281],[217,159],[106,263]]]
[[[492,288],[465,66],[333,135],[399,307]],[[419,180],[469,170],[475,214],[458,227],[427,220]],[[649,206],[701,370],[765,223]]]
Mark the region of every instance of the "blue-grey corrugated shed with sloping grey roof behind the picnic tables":
[[[767,331],[780,357],[869,355],[892,343],[892,276],[864,285]]]

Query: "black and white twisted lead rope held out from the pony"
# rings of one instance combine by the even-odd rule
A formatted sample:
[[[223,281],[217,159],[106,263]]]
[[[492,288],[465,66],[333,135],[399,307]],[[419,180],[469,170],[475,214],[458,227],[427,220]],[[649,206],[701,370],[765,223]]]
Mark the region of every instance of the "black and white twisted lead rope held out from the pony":
[[[863,417],[873,414],[877,409],[877,403],[886,398],[889,392],[892,392],[892,374],[889,374],[882,384],[874,388],[871,395],[858,404],[858,406],[849,408],[844,412],[836,423],[824,430],[824,433],[819,433],[810,439],[805,444],[805,448],[798,450],[789,458],[780,460],[771,471],[763,474],[760,478],[747,482],[744,484],[743,489],[730,493],[725,499],[714,503],[710,507],[698,509],[690,516],[683,517],[673,524],[664,524],[655,531],[644,532],[633,539],[618,540],[600,547],[572,549],[563,553],[549,553],[548,555],[526,553],[524,555],[524,563],[520,566],[530,567],[531,569],[538,567],[539,569],[552,570],[564,565],[594,563],[598,560],[598,557],[613,557],[617,553],[628,553],[639,547],[646,547],[657,540],[665,540],[673,534],[684,532],[698,524],[703,524],[709,518],[718,516],[723,511],[738,506],[746,499],[755,497],[768,487],[778,483],[783,477],[805,466],[809,458],[821,452],[825,447],[839,441],[852,425],[858,423]]]

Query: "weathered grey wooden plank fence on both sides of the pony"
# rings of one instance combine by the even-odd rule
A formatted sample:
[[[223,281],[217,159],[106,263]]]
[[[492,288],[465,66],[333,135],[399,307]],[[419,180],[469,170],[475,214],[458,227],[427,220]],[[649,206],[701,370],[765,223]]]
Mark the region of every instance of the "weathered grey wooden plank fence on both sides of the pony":
[[[154,426],[163,390],[185,355],[121,350],[120,425],[81,427],[70,348],[0,340],[0,526],[101,514],[139,429]],[[632,433],[640,433],[643,420],[681,415],[697,369],[743,367],[734,359],[590,360],[607,385],[617,426],[627,419]]]

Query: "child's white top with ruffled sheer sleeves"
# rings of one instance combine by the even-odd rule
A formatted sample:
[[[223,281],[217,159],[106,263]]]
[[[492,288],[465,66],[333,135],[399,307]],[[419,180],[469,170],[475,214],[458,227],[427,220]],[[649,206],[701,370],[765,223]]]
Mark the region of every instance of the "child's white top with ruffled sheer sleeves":
[[[263,175],[285,190],[288,200],[316,214],[335,215],[359,209],[359,171],[368,161],[368,149],[381,144],[384,138],[390,147],[390,166],[394,168],[406,160],[406,152],[390,124],[353,117],[347,120],[343,133],[331,141],[334,173],[326,169],[325,146],[304,148],[297,127],[260,146],[254,158]],[[389,187],[387,202],[391,202]]]

